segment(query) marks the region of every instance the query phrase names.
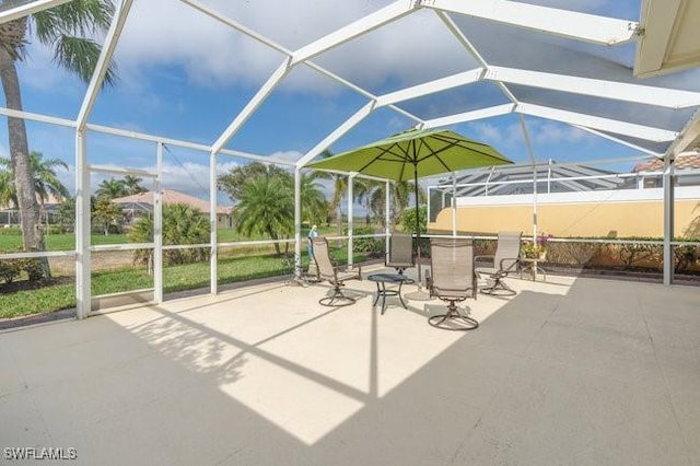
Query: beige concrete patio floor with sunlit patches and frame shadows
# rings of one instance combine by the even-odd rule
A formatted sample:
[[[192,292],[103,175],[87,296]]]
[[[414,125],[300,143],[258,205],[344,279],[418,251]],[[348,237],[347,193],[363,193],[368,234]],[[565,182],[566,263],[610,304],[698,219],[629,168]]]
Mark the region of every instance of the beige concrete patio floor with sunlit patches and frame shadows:
[[[78,464],[700,464],[700,290],[510,279],[481,326],[268,283],[0,334],[0,446]],[[406,287],[412,291],[415,287]],[[4,452],[0,462],[7,462]]]

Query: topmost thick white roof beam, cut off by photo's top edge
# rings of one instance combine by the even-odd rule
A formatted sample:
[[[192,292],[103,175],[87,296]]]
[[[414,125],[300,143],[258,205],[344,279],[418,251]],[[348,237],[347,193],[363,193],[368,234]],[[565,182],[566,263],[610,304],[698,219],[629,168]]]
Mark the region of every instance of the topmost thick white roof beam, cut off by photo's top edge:
[[[629,42],[638,23],[509,0],[431,0],[425,8],[603,45]]]

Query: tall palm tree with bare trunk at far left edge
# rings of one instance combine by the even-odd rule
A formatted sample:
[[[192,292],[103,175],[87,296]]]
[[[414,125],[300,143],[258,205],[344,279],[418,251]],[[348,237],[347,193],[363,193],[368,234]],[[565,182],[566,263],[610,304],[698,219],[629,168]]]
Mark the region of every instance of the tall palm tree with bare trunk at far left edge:
[[[88,82],[97,63],[101,47],[86,37],[106,32],[113,14],[114,4],[110,0],[74,0],[2,24],[0,27],[0,81],[4,91],[5,106],[13,110],[23,109],[16,65],[26,57],[30,28],[42,44],[54,49],[54,59],[62,68]],[[115,69],[110,67],[105,74],[105,82],[112,84],[115,79]],[[18,207],[22,212],[24,249],[44,251],[44,236],[37,228],[39,206],[24,119],[8,117],[8,135]],[[42,269],[42,277],[48,278],[50,276],[48,260],[43,261]]]

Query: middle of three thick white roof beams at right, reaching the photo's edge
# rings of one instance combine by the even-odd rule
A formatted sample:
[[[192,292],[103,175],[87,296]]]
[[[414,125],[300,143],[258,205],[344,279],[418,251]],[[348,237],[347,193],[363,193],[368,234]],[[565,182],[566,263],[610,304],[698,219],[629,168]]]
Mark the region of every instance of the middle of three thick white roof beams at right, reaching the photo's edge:
[[[687,108],[700,105],[700,92],[579,78],[516,68],[489,67],[485,79],[666,108]]]

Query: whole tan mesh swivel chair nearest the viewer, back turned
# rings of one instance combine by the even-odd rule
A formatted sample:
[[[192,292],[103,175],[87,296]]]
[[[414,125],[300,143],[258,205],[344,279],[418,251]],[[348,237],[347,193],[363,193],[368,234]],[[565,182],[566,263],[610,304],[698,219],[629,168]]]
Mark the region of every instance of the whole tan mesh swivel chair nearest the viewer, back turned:
[[[448,303],[445,314],[428,318],[430,325],[445,330],[474,330],[479,326],[475,318],[459,313],[456,304],[467,298],[477,298],[471,241],[465,238],[431,241],[430,275],[427,279],[430,295]]]

